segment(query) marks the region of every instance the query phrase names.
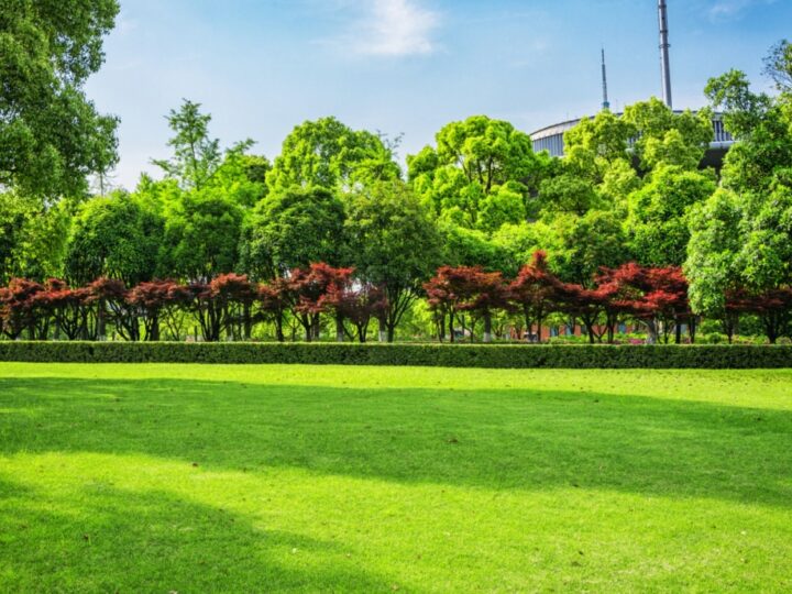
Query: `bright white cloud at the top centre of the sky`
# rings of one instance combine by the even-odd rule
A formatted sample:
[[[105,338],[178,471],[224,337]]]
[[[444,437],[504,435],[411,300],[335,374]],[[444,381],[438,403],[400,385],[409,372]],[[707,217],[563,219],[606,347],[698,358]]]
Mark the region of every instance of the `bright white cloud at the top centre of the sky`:
[[[344,45],[371,56],[426,55],[437,51],[432,33],[440,15],[419,0],[365,0],[365,14],[344,37]]]

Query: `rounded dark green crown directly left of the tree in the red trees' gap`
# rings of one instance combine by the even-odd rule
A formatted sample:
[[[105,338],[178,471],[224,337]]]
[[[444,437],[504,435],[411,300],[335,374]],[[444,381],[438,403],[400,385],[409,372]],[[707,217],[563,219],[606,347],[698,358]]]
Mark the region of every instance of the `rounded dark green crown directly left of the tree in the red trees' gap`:
[[[333,191],[294,187],[258,202],[245,222],[241,268],[254,278],[324,262],[341,264],[344,209]]]

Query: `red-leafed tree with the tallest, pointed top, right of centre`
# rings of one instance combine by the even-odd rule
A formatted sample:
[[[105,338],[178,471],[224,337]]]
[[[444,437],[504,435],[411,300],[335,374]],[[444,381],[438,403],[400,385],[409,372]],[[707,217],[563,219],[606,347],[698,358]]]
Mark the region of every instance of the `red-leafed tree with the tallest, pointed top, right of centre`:
[[[548,268],[547,253],[534,253],[530,264],[520,268],[517,278],[508,287],[509,299],[522,311],[526,329],[537,324],[537,340],[541,342],[541,324],[558,309],[560,280]]]

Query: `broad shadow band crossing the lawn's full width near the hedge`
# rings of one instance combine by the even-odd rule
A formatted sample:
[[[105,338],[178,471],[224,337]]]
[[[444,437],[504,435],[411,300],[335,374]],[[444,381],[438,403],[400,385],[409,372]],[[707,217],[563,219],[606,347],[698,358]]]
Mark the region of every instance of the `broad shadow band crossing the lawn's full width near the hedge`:
[[[185,380],[13,378],[2,388],[7,455],[138,452],[229,470],[792,507],[792,413],[783,410],[584,392]]]

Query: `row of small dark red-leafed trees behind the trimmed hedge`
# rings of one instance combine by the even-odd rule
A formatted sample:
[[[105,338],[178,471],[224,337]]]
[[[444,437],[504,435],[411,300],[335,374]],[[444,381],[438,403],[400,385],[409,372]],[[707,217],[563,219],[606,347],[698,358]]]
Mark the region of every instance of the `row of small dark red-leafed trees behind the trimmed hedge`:
[[[440,342],[454,342],[460,327],[462,336],[470,330],[472,340],[479,322],[484,342],[491,342],[498,315],[516,327],[520,338],[536,329],[536,342],[544,338],[548,318],[563,315],[573,324],[581,323],[592,344],[614,343],[617,324],[625,320],[642,323],[651,343],[668,343],[673,333],[679,344],[683,330],[693,343],[698,322],[688,299],[688,280],[674,266],[627,263],[603,268],[587,288],[562,282],[549,270],[547,254],[536,252],[513,279],[481,266],[441,266],[424,284],[424,292]],[[732,342],[740,316],[756,316],[770,343],[776,343],[791,311],[791,288],[761,295],[738,290],[726,296],[718,321]],[[324,263],[294,268],[265,283],[234,273],[208,283],[154,279],[129,288],[123,280],[107,277],[79,288],[56,278],[43,284],[15,278],[0,288],[0,334],[11,340],[103,340],[111,327],[130,341],[187,337],[239,341],[251,340],[254,327],[264,323],[279,342],[287,334],[296,340],[298,329],[310,342],[320,338],[324,316],[337,341],[363,343],[373,320],[378,322],[381,340],[393,340],[398,323],[391,324],[394,308],[384,287],[356,278],[354,268]]]

